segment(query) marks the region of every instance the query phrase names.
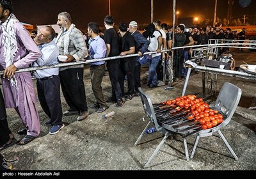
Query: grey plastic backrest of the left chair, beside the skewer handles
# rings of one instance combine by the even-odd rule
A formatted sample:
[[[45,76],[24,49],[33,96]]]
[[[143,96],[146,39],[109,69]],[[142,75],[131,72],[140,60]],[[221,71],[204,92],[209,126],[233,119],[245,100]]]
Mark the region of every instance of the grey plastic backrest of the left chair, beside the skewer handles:
[[[166,130],[165,130],[163,127],[161,127],[161,126],[159,125],[158,121],[157,121],[156,114],[155,114],[155,111],[154,111],[154,107],[153,107],[153,105],[152,105],[152,102],[151,102],[151,100],[150,100],[150,97],[148,97],[148,95],[147,95],[146,93],[144,93],[141,88],[138,88],[138,89],[139,89],[139,91],[140,91],[140,93],[141,93],[141,95],[140,95],[140,97],[141,97],[141,102],[142,102],[142,104],[143,104],[144,111],[145,111],[145,113],[147,114],[148,118],[150,119],[150,121],[151,121],[152,123],[154,123],[154,125],[155,125],[155,127],[156,127],[156,130],[157,130],[158,132],[163,132],[163,133],[165,133]]]

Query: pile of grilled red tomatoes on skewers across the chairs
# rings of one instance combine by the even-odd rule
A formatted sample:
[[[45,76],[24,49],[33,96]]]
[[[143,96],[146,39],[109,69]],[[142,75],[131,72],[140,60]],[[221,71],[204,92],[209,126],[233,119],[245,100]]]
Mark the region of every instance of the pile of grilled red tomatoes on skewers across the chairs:
[[[166,100],[164,105],[175,107],[177,112],[189,110],[188,120],[198,121],[202,129],[212,128],[223,122],[223,115],[216,109],[210,109],[209,104],[204,102],[203,98],[197,98],[196,95],[186,95],[172,100]]]

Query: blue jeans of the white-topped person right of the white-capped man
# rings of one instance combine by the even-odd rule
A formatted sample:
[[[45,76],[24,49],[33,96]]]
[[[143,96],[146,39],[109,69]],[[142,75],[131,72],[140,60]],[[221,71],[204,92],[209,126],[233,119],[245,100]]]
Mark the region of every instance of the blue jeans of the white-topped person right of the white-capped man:
[[[148,61],[148,86],[154,85],[157,86],[157,74],[156,74],[156,66],[158,65],[161,56],[156,56]]]

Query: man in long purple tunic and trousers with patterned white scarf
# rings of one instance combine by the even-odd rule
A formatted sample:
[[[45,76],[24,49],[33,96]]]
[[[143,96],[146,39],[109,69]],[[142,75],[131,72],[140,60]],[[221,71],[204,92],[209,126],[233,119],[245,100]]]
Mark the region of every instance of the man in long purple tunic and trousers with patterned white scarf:
[[[41,53],[29,32],[12,13],[11,0],[0,0],[0,70],[6,108],[15,108],[26,130],[19,143],[31,142],[40,134],[40,121],[36,110],[36,95],[30,72],[15,73],[28,68]]]

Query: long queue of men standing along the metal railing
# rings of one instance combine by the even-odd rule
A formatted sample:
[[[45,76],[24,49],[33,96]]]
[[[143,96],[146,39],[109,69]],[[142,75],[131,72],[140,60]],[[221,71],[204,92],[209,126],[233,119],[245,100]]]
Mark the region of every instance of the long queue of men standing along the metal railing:
[[[95,96],[95,104],[90,107],[97,113],[106,111],[109,102],[116,103],[116,107],[122,107],[125,100],[139,97],[138,88],[141,87],[141,65],[148,63],[147,86],[156,88],[159,85],[160,75],[157,74],[157,66],[160,63],[166,65],[166,84],[179,81],[186,77],[184,61],[189,59],[191,45],[208,43],[208,39],[234,39],[230,29],[221,33],[220,27],[189,27],[180,24],[173,30],[167,24],[161,24],[160,20],[145,27],[143,34],[138,31],[136,21],[129,24],[120,22],[118,31],[114,28],[115,21],[112,16],[104,18],[106,30],[104,35],[100,33],[97,22],[88,24],[88,39],[72,23],[69,13],[58,14],[57,24],[61,32],[56,35],[50,26],[44,26],[33,32],[31,38],[29,32],[22,26],[12,13],[11,0],[0,0],[0,70],[3,83],[3,95],[0,93],[0,150],[12,144],[14,135],[8,128],[6,108],[14,108],[19,114],[24,128],[18,134],[25,135],[17,144],[28,144],[40,134],[40,119],[36,109],[35,89],[30,72],[15,73],[17,69],[29,66],[56,65],[58,63],[78,62],[83,59],[99,59],[113,56],[127,56],[138,54],[136,57],[111,59],[109,61],[95,61],[90,63],[90,77],[92,91]],[[171,68],[172,53],[161,52],[172,49],[174,34],[174,47],[184,47],[173,52],[173,68]],[[245,29],[237,38],[245,37]],[[87,41],[88,40],[88,41]],[[86,45],[87,43],[87,45]],[[144,55],[145,52],[154,52]],[[67,60],[58,61],[58,56],[67,56]],[[143,62],[142,62],[143,61]],[[102,79],[105,68],[108,68],[111,82],[111,97],[104,97],[102,91]],[[172,71],[173,77],[172,77]],[[35,70],[32,75],[36,78],[38,100],[49,120],[45,125],[51,126],[49,134],[57,134],[65,127],[62,116],[77,115],[77,121],[89,116],[84,89],[84,65],[64,66],[60,68],[47,68]],[[127,91],[124,81],[127,79]],[[161,79],[161,81],[163,81]],[[65,101],[68,104],[67,111],[63,112],[60,99],[60,87]]]

